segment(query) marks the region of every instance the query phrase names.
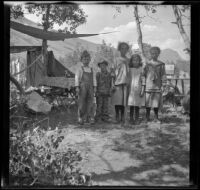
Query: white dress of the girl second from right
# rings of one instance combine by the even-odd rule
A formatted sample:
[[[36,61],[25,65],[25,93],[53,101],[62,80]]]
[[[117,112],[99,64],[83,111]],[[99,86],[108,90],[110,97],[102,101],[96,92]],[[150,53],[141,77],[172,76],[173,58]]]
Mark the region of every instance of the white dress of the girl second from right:
[[[143,68],[129,68],[129,96],[128,96],[128,106],[145,106],[145,96],[140,97],[140,92],[142,89],[142,75]]]

